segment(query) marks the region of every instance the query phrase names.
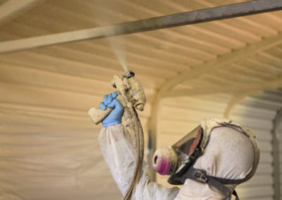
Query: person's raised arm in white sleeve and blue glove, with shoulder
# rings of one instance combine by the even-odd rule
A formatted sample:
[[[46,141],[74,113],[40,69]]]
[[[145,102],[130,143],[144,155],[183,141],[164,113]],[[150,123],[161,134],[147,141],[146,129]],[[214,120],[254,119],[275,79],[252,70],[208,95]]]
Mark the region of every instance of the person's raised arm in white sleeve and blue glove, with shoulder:
[[[134,175],[135,155],[130,133],[121,124],[123,106],[115,96],[116,94],[104,96],[104,102],[100,104],[102,109],[109,106],[114,110],[102,121],[104,127],[100,132],[99,142],[109,170],[124,195]],[[136,185],[133,199],[174,199],[178,189],[176,187],[168,189],[151,182],[147,168],[147,163],[143,161],[140,180]]]

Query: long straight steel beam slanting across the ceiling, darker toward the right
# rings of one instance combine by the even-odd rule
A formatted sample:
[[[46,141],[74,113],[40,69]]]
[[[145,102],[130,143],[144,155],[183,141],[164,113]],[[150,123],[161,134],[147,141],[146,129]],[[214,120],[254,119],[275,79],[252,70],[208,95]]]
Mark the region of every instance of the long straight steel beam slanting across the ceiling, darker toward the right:
[[[34,49],[41,46],[49,46],[67,42],[78,42],[86,39],[98,39],[115,35],[128,35],[135,32],[145,32],[168,27],[177,27],[181,25],[204,23],[213,20],[223,20],[226,18],[254,15],[257,13],[278,11],[281,9],[281,0],[248,1],[240,4],[207,8],[200,11],[178,13],[174,15],[166,15],[157,18],[137,20],[104,27],[93,27],[85,30],[62,32],[52,35],[0,42],[0,54],[12,51],[21,51],[25,49]]]

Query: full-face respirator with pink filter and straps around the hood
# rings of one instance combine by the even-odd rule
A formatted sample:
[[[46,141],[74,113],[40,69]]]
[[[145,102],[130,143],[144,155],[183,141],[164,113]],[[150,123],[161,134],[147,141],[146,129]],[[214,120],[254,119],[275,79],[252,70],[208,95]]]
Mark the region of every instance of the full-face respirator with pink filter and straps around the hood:
[[[210,124],[210,122],[209,122]],[[250,139],[254,147],[255,158],[252,170],[245,178],[240,180],[229,180],[219,177],[207,175],[204,170],[193,168],[197,158],[204,154],[204,149],[209,143],[209,137],[212,130],[216,127],[230,127],[242,133]],[[259,149],[255,139],[255,135],[250,130],[244,129],[240,125],[232,123],[231,120],[221,120],[221,122],[212,122],[212,125],[199,125],[188,135],[185,135],[176,144],[172,146],[157,149],[153,157],[153,168],[160,175],[170,175],[168,182],[172,185],[183,185],[186,179],[201,182],[203,184],[212,185],[219,192],[226,194],[226,200],[231,199],[231,192],[225,185],[238,185],[250,179],[255,174],[257,164],[259,162]],[[238,195],[234,191],[236,199]]]

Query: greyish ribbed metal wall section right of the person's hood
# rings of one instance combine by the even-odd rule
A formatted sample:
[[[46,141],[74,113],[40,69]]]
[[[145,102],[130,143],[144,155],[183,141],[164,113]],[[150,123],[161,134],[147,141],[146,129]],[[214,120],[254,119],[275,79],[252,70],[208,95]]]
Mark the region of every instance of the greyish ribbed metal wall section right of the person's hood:
[[[238,187],[242,199],[274,198],[273,120],[282,106],[281,90],[247,96],[231,111],[230,118],[249,127],[259,142],[260,161],[257,173]]]

